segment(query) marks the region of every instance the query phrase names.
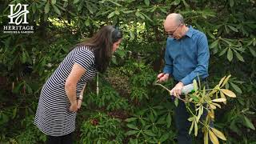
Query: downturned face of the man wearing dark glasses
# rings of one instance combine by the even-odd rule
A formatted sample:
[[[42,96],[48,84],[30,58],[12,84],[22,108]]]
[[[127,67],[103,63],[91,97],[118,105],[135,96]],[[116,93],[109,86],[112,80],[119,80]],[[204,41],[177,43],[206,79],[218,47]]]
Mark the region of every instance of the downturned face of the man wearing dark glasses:
[[[164,23],[164,28],[166,31],[166,34],[168,34],[169,37],[175,38],[175,39],[180,39],[182,38],[182,26],[183,23],[176,23],[173,20],[166,20]]]

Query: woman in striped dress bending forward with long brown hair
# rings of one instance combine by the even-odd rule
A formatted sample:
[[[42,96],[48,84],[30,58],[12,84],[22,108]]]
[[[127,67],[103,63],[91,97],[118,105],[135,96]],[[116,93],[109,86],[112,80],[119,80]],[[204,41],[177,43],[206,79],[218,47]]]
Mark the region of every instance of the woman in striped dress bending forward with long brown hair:
[[[93,38],[75,46],[47,80],[34,118],[38,129],[47,134],[46,143],[72,143],[76,111],[81,106],[86,82],[97,71],[106,71],[121,41],[121,31],[102,26]]]

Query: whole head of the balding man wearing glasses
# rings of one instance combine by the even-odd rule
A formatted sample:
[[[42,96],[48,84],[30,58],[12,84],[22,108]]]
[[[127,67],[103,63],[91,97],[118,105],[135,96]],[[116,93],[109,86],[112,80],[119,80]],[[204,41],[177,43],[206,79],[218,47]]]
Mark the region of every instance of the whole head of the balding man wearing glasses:
[[[182,14],[172,13],[166,17],[163,23],[166,34],[175,39],[180,39],[186,32],[186,26]]]

